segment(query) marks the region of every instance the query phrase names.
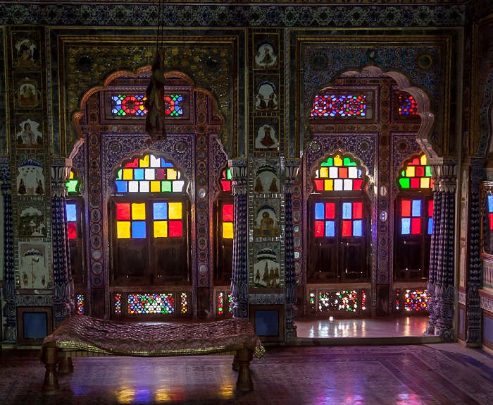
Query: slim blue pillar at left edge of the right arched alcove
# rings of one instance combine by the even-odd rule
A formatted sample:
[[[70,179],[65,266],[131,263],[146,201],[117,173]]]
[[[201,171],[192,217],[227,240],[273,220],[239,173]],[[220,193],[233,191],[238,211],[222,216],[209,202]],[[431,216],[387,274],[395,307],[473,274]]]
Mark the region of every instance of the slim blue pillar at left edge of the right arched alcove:
[[[285,312],[286,312],[286,341],[294,341],[297,337],[297,327],[294,319],[298,316],[297,284],[294,272],[294,233],[292,195],[295,191],[295,181],[299,171],[299,160],[289,159],[285,162]]]

